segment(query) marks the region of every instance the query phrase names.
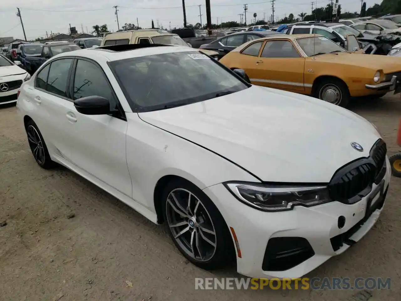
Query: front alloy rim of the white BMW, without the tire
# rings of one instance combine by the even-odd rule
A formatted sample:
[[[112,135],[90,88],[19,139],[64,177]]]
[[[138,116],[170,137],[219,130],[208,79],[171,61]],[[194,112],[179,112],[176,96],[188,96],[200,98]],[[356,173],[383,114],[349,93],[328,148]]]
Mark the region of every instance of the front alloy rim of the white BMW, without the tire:
[[[174,239],[188,256],[199,262],[213,258],[217,245],[215,227],[196,195],[182,188],[172,190],[167,197],[166,217]]]

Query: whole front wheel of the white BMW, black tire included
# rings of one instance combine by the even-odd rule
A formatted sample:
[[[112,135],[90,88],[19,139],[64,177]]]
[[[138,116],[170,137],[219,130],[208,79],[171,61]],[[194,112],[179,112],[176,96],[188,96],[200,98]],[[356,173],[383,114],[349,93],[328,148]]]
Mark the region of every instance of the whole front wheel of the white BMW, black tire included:
[[[164,188],[162,201],[168,233],[178,250],[192,264],[205,270],[214,270],[235,259],[228,226],[217,207],[201,189],[190,182],[176,179]]]

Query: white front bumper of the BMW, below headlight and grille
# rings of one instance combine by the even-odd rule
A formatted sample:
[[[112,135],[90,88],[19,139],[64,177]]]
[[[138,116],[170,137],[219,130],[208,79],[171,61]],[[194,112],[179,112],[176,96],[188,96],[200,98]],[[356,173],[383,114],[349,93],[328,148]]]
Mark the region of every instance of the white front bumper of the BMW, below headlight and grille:
[[[351,205],[333,201],[314,207],[296,206],[291,211],[272,213],[261,212],[239,202],[223,184],[207,187],[203,191],[218,207],[227,226],[235,230],[241,250],[241,258],[237,256],[238,273],[255,278],[299,278],[330,257],[344,252],[373,227],[383,208],[389,186],[391,167],[387,157],[386,166],[383,198],[377,200],[377,196],[373,199],[375,205],[369,207],[372,209],[370,215],[366,215],[366,212],[369,199],[378,186],[375,184],[369,195]],[[345,223],[339,228],[341,216],[345,218]],[[277,238],[296,239],[304,248],[303,253],[298,250],[302,253],[298,257],[302,259],[297,260],[303,261],[295,266],[289,265],[290,267],[284,264],[281,270],[277,269],[277,265],[275,270],[267,270],[269,265],[266,264],[266,257],[271,255],[268,243],[271,244]],[[308,250],[308,246],[312,252]]]

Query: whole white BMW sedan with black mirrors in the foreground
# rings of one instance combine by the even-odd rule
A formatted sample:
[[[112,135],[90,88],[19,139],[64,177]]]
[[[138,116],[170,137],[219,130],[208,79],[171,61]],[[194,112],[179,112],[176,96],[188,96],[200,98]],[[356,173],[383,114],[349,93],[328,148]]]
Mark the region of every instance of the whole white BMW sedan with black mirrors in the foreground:
[[[243,275],[301,277],[372,228],[389,186],[370,122],[253,86],[188,47],[62,53],[17,105],[38,165],[62,164],[166,222],[205,269],[236,260]]]

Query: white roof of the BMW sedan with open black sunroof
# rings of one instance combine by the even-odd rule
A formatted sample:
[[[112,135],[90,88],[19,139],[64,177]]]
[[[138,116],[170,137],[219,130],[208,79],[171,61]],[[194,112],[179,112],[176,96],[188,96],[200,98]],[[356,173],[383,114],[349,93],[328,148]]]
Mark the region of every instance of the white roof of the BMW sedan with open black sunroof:
[[[140,45],[140,44],[127,44],[127,45],[111,45],[111,46],[103,46],[96,48],[79,49],[69,52],[63,52],[57,55],[57,57],[77,56],[77,57],[86,57],[88,59],[93,59],[95,61],[107,62],[107,61],[119,61],[122,59],[130,59],[134,57],[145,57],[148,55],[161,55],[166,53],[199,52],[199,49],[186,46],[169,46],[169,45],[158,45],[158,44],[150,44],[150,45],[152,46]],[[132,47],[132,49],[125,51],[113,51],[113,49],[118,49],[119,47]]]

